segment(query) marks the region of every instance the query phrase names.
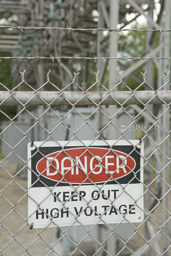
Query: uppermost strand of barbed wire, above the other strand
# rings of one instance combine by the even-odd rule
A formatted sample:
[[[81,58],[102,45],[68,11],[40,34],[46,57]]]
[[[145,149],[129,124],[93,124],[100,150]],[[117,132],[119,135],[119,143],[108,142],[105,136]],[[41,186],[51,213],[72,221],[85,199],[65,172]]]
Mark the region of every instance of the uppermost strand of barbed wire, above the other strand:
[[[4,26],[0,25],[0,28],[13,28],[17,30],[21,30],[22,32],[24,30],[46,30],[46,29],[55,29],[55,30],[68,30],[68,34],[70,34],[71,31],[108,31],[108,32],[121,32],[121,31],[133,31],[133,32],[170,32],[171,29],[131,29],[131,28],[122,28],[122,29],[116,29],[116,28],[61,28],[61,27],[21,27],[21,26]]]

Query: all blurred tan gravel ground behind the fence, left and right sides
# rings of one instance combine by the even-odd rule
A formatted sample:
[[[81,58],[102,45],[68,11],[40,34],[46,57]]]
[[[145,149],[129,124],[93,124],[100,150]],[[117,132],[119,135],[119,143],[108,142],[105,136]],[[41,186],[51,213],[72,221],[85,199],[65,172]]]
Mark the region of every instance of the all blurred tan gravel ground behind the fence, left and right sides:
[[[16,164],[9,164],[5,161],[2,164],[2,167],[10,172],[11,175],[15,175],[17,171]],[[0,190],[2,190],[5,186],[7,186],[11,182],[11,177],[9,174],[4,172],[3,169],[0,168]],[[16,176],[15,182],[18,183],[24,189],[27,188],[27,180],[20,179],[19,175]],[[51,245],[54,245],[57,241],[56,238],[56,228],[47,228],[41,233],[41,238],[37,236],[37,233],[32,229],[29,229],[29,226],[25,224],[25,220],[17,213],[19,212],[23,217],[27,218],[27,196],[22,188],[20,188],[15,182],[11,182],[11,184],[4,189],[2,192],[2,196],[0,197],[0,220],[7,215],[7,217],[2,221],[2,226],[0,226],[0,249],[4,248],[2,251],[2,255],[4,256],[13,256],[13,255],[33,255],[33,256],[43,256],[43,255],[70,255],[71,252],[67,252],[66,248],[66,240],[61,239],[54,247],[55,251],[57,252],[50,252]],[[25,197],[23,197],[25,196]],[[169,195],[170,196],[170,195]],[[21,198],[23,199],[16,204]],[[169,200],[169,210],[171,210],[171,204]],[[12,205],[15,205],[15,208],[12,208]],[[14,212],[15,209],[16,212]],[[155,210],[154,214],[150,215],[149,217],[152,218],[156,223],[161,225],[162,223],[162,215],[164,214],[164,210],[159,205]],[[169,220],[170,222],[170,220]],[[25,225],[25,226],[24,226]],[[139,224],[135,224],[138,227]],[[4,227],[6,228],[4,228]],[[23,227],[24,226],[24,227]],[[23,228],[22,228],[23,227]],[[158,232],[158,228],[151,222],[148,222],[148,227],[150,228],[151,236],[154,236]],[[19,229],[21,230],[19,231]],[[37,229],[39,232],[41,229]],[[127,244],[128,247],[133,250],[134,252],[140,248],[145,240],[141,236],[145,236],[145,224],[142,224],[140,228],[138,228],[137,234],[133,236],[130,242]],[[18,232],[19,231],[19,232]],[[16,234],[16,232],[18,232]],[[16,234],[13,237],[13,234]],[[159,254],[160,254],[160,247],[161,246],[161,237],[157,236],[158,242],[153,242],[151,245]],[[46,240],[46,242],[43,241]],[[36,240],[36,241],[35,241]],[[33,243],[33,241],[35,241]],[[33,243],[33,244],[32,244]],[[6,244],[8,244],[6,246]],[[29,247],[31,245],[31,247]],[[6,247],[5,247],[6,246]],[[117,246],[120,249],[123,248],[122,242],[117,242]],[[26,248],[28,249],[28,253],[26,253]],[[92,242],[88,243],[81,243],[79,247],[85,255],[93,255],[96,247],[95,244]],[[72,252],[74,251],[74,247],[72,247]],[[142,251],[142,250],[141,250]],[[152,249],[152,256],[158,255]],[[49,254],[48,254],[49,253]],[[128,250],[124,250],[124,255],[129,255],[131,252]],[[73,255],[83,255],[78,251],[74,252]],[[146,254],[147,255],[147,254]],[[171,249],[168,253],[171,256]],[[99,255],[98,255],[99,256]],[[102,255],[101,255],[102,256]]]

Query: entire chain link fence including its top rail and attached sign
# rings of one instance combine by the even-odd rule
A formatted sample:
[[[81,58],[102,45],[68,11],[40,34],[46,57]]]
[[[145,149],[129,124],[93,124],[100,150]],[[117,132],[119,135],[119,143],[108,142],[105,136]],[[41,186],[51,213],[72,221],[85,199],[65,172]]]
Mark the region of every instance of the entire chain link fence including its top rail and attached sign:
[[[0,112],[6,118],[0,133],[0,255],[170,255],[171,91],[164,91],[171,85],[169,73],[157,91],[146,81],[146,72],[134,91],[123,83],[122,73],[109,91],[100,84],[98,72],[84,91],[77,83],[79,74],[59,89],[50,81],[49,71],[47,82],[34,89],[26,83],[25,72],[20,72],[21,83],[12,90],[0,83]],[[9,106],[16,108],[13,117],[8,115]],[[43,148],[48,145],[58,147],[54,155]],[[69,151],[73,145],[83,149],[77,158]],[[97,145],[105,148],[104,155],[97,157],[98,149],[92,149]],[[127,146],[131,148],[121,155],[119,145],[123,145],[123,152]],[[143,145],[144,153],[138,149]],[[93,158],[90,172],[84,162],[87,154]],[[63,169],[55,160],[59,156],[69,161]],[[105,162],[105,156],[116,156],[113,172],[112,162]],[[137,169],[130,167],[129,157],[139,157]],[[41,159],[45,166],[42,164],[39,173],[36,170]],[[36,167],[33,161],[37,161]],[[78,169],[83,179],[73,185],[67,175],[73,172],[76,177]],[[94,181],[91,174],[97,175],[102,169],[108,179]],[[120,169],[130,172],[129,182],[115,177]],[[50,172],[59,173],[60,179],[49,183],[43,173]],[[112,190],[105,190],[107,182],[115,190],[112,195]],[[89,184],[87,193],[91,186],[96,191],[88,201],[83,193],[85,183]],[[60,190],[64,187],[61,184],[72,193]],[[137,184],[141,187],[139,195]],[[38,188],[42,192],[36,195]],[[122,203],[124,196],[129,205]],[[105,201],[101,212],[94,206],[97,198]],[[34,206],[29,212],[27,200]],[[45,209],[44,202],[50,201],[60,207]],[[82,208],[78,207],[80,201]],[[75,207],[75,212],[68,205]],[[139,220],[134,218],[137,214],[141,215]],[[59,223],[62,215],[72,216],[70,222],[63,219]],[[42,221],[40,228],[33,217]]]

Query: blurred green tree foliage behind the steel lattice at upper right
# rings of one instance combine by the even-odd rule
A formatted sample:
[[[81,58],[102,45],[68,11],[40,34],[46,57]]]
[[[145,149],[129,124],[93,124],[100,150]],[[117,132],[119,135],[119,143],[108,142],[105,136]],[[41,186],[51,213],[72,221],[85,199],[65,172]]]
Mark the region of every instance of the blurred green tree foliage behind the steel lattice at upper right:
[[[140,26],[138,23],[134,24],[134,26],[132,26],[132,29],[145,29],[145,26]],[[138,57],[139,55],[141,57],[143,57],[145,55],[145,44],[146,44],[146,35],[149,32],[133,32],[133,31],[128,31],[128,32],[120,32],[117,34],[118,36],[118,57]],[[109,50],[109,36],[110,34],[106,35],[106,40],[104,40],[104,44],[103,44],[103,49],[106,50],[106,52],[108,52]],[[153,46],[156,47],[158,45],[158,38],[159,38],[159,33],[156,33],[154,35],[154,43]],[[91,42],[91,45],[87,46],[86,49],[84,49],[85,52],[82,53],[80,52],[80,54],[78,54],[79,56],[87,56],[87,57],[92,57],[93,54],[95,56],[97,56],[97,44],[95,44],[94,42]],[[100,57],[100,56],[98,56]],[[103,61],[103,60],[100,60]],[[131,65],[137,63],[137,60],[119,60],[119,62],[125,66],[126,68],[129,68]],[[87,88],[93,84],[95,82],[95,75],[93,74],[93,72],[97,72],[99,70],[98,68],[98,63],[99,61],[96,61],[96,63],[92,60],[88,61],[88,65],[87,65],[87,80],[86,80],[86,84],[87,84]],[[105,61],[103,61],[103,64],[105,65]],[[76,71],[80,72],[80,84],[83,82],[84,77],[81,76],[81,74],[83,73],[83,69],[85,67],[85,60],[79,60],[77,63],[74,64]],[[124,71],[124,68],[120,67],[119,70],[117,70],[118,72]],[[145,72],[146,70],[146,64],[143,64],[137,68],[134,71],[134,74],[140,79],[143,79],[143,76],[141,74],[141,72]],[[101,70],[100,70],[101,72]],[[106,72],[105,72],[105,76],[103,79],[103,85],[108,88],[108,76],[109,76],[109,64],[106,68]],[[154,89],[156,90],[156,86],[157,86],[157,69],[154,65],[154,73],[152,74],[152,76],[154,76]],[[118,76],[119,78],[119,76]],[[123,79],[123,82],[125,84],[127,84],[131,90],[135,90],[140,83],[138,81],[136,81],[133,77],[129,76],[125,79]],[[94,91],[97,90],[96,88],[97,86],[93,86],[90,90]],[[102,89],[103,90],[103,89]],[[118,87],[118,90],[128,90],[127,87],[121,85],[120,87]],[[144,87],[141,86],[139,88],[139,90],[144,90]]]

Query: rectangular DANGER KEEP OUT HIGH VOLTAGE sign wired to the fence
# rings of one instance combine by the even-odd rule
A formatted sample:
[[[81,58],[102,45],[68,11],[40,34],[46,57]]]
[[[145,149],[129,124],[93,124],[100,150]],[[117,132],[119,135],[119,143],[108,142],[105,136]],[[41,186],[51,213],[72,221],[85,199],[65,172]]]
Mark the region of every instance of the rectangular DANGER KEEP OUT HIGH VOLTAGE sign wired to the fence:
[[[36,147],[29,143],[29,224],[43,228],[123,219],[141,222],[144,144],[139,144],[139,140],[34,142]]]

